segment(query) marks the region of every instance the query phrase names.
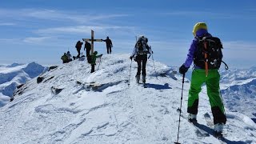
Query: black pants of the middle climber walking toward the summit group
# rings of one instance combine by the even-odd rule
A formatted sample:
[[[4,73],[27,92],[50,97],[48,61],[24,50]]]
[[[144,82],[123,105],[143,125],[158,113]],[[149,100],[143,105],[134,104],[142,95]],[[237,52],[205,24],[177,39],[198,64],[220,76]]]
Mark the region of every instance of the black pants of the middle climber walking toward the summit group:
[[[138,64],[138,70],[136,75],[141,75],[146,77],[146,61],[147,61],[147,55],[138,55],[136,58],[137,64]]]

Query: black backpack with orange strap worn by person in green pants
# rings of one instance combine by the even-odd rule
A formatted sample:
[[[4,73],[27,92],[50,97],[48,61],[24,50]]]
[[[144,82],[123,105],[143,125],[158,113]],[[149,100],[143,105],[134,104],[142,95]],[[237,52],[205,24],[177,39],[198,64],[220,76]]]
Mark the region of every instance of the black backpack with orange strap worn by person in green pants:
[[[204,69],[218,69],[221,66],[223,57],[221,40],[217,37],[196,38],[198,46],[194,51],[194,65]],[[228,69],[227,66],[226,69]]]

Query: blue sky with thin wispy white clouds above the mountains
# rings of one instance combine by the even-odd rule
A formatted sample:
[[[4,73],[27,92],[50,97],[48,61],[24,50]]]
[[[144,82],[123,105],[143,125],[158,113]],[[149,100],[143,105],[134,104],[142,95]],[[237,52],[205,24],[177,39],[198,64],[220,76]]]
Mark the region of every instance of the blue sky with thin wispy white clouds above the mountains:
[[[155,61],[181,66],[194,24],[206,22],[210,34],[221,38],[231,68],[256,66],[254,0],[0,1],[0,64],[62,63],[62,54],[76,55],[76,42],[94,30],[95,38],[112,39],[114,53],[130,54],[136,35],[143,34]],[[104,42],[94,47],[106,54]]]

